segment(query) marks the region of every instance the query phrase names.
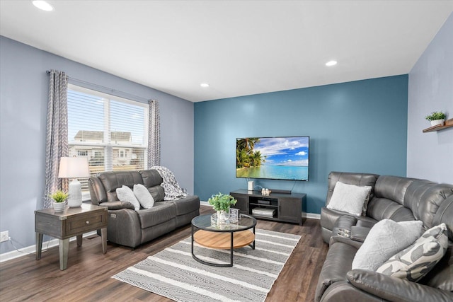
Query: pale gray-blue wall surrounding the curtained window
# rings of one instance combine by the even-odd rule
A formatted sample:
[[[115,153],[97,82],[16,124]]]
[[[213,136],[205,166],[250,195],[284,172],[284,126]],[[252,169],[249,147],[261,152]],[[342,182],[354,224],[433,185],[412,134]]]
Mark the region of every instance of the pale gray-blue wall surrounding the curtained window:
[[[0,231],[18,247],[35,244],[35,209],[45,186],[46,70],[159,100],[161,165],[193,193],[193,103],[0,37]],[[0,253],[13,250],[0,243]]]

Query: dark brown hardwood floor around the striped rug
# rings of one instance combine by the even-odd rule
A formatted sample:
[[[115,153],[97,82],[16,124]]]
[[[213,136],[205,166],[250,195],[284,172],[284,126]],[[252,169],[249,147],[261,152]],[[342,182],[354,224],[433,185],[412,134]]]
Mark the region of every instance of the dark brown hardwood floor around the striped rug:
[[[207,206],[200,211],[213,212]],[[266,301],[314,301],[328,250],[321,239],[319,220],[306,219],[303,226],[258,220],[257,228],[302,236]],[[64,271],[59,270],[57,247],[42,252],[38,261],[35,255],[25,255],[3,262],[0,301],[171,301],[111,277],[188,236],[190,226],[185,226],[135,250],[108,243],[105,255],[101,237],[89,236],[81,247],[75,241],[69,243],[68,267]]]

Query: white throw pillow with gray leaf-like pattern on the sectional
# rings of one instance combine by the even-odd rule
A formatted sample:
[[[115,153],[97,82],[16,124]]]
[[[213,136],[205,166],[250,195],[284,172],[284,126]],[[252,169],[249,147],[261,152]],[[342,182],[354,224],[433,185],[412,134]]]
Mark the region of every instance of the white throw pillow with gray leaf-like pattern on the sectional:
[[[448,247],[446,231],[445,223],[430,228],[413,245],[391,257],[376,272],[408,281],[420,280],[444,257]]]

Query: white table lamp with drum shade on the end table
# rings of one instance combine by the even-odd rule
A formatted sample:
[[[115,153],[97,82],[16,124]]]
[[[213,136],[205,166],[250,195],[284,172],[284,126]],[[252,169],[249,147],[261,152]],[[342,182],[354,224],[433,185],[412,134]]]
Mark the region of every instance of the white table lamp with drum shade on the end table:
[[[90,176],[86,157],[62,157],[59,162],[58,178],[72,178],[68,189],[68,206],[80,207],[82,204],[81,183],[77,178]]]

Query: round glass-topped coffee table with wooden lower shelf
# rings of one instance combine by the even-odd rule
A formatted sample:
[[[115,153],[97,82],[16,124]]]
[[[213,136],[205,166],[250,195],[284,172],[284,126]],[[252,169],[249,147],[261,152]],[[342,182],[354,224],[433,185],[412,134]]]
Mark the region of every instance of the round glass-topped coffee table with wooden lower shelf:
[[[233,250],[249,245],[255,250],[256,219],[245,214],[240,215],[236,223],[217,225],[211,223],[211,215],[200,215],[192,219],[192,257],[204,265],[214,267],[232,267]],[[252,229],[252,231],[251,231]],[[197,230],[197,231],[195,231]],[[230,251],[230,262],[214,263],[201,260],[193,253],[194,241],[206,248]]]

